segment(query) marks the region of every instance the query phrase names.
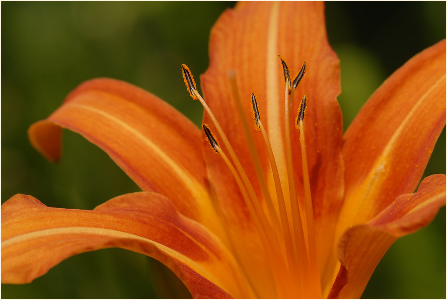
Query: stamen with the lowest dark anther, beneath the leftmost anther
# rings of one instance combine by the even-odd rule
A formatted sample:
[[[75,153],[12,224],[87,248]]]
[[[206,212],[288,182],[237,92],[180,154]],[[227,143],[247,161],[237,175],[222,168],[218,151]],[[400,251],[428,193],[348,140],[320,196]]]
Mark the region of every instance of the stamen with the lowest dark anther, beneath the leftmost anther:
[[[261,242],[263,244],[263,247],[264,247],[264,250],[266,251],[267,256],[274,257],[274,255],[275,255],[274,244],[269,242],[268,234],[265,232],[265,227],[262,225],[262,221],[259,220],[259,215],[256,213],[256,209],[254,207],[255,206],[254,199],[252,199],[250,201],[250,197],[247,193],[246,186],[242,182],[241,177],[239,176],[238,172],[236,171],[234,166],[229,161],[228,157],[225,155],[224,151],[220,148],[219,143],[217,142],[216,138],[214,137],[211,130],[209,129],[209,126],[206,124],[203,124],[202,127],[205,131],[207,140],[209,142],[211,141],[210,143],[211,143],[213,149],[216,147],[216,149],[214,149],[214,150],[221,155],[226,166],[228,167],[231,174],[233,175],[233,178],[236,181],[236,183],[241,191],[242,198],[244,199],[244,202],[245,202],[245,205],[247,206],[248,212],[249,212],[251,218],[253,219],[255,227],[259,233],[259,237],[261,239]],[[287,295],[284,294],[285,289],[283,288],[284,284],[288,280],[287,276],[284,275],[284,272],[281,270],[280,265],[276,264],[274,262],[274,260],[269,259],[269,264],[270,264],[270,268],[272,269],[272,272],[274,273],[273,278],[275,280],[277,297],[278,298],[287,297]],[[288,283],[288,285],[286,285],[286,286],[290,286],[289,284],[290,283]],[[278,294],[278,293],[281,293],[281,294]]]

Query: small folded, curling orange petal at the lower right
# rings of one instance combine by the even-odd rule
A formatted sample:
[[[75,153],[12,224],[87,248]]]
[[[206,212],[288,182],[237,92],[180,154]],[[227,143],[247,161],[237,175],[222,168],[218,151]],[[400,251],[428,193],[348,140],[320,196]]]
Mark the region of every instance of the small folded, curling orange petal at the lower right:
[[[360,298],[391,244],[427,226],[445,205],[446,175],[432,175],[416,193],[397,197],[369,223],[346,230],[338,243],[341,266],[329,298]]]

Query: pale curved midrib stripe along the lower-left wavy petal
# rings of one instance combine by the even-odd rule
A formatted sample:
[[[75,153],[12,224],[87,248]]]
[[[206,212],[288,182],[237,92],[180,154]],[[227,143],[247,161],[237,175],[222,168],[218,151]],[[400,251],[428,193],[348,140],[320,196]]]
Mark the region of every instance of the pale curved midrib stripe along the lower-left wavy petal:
[[[26,242],[30,239],[38,240],[41,237],[46,237],[50,235],[60,235],[60,234],[91,234],[96,236],[102,236],[102,237],[108,237],[108,238],[126,238],[126,239],[132,239],[135,241],[142,241],[145,243],[149,243],[165,254],[167,254],[170,257],[173,257],[174,259],[180,261],[181,263],[187,265],[191,269],[193,269],[195,272],[200,274],[201,276],[205,277],[206,279],[210,280],[212,283],[216,284],[217,286],[221,287],[219,281],[216,280],[213,276],[211,276],[207,271],[205,271],[199,264],[197,264],[192,259],[188,258],[187,256],[174,251],[173,249],[166,247],[160,243],[157,243],[153,240],[141,237],[139,235],[113,230],[113,229],[106,229],[106,228],[96,228],[96,227],[62,227],[62,228],[51,228],[51,229],[44,229],[34,232],[29,232],[25,234],[21,234],[15,237],[12,237],[10,239],[7,239],[5,241],[1,242],[1,249],[5,249],[8,246],[12,246],[14,244],[18,244],[21,242]],[[142,253],[145,254],[145,253]]]

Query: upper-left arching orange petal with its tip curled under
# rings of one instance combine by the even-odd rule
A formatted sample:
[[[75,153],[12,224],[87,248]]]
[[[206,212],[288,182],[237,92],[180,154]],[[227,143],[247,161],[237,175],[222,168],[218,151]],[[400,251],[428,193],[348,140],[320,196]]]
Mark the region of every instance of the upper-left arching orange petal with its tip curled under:
[[[60,156],[61,127],[106,151],[143,190],[167,196],[182,214],[224,237],[207,188],[200,130],[167,103],[123,81],[92,79],[29,128],[31,144],[52,161]]]

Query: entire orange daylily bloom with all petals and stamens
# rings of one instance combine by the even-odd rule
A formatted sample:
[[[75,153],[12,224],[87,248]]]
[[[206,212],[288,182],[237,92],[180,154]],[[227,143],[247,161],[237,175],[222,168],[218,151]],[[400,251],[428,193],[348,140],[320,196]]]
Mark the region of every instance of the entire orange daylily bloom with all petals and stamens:
[[[212,29],[203,94],[182,73],[204,133],[108,78],[29,128],[50,161],[62,128],[81,134],[143,191],[92,211],[13,196],[1,206],[2,283],[121,247],[164,263],[195,298],[358,298],[390,245],[446,203],[445,175],[421,181],[446,124],[445,41],[391,75],[344,134],[321,3],[238,3]]]

